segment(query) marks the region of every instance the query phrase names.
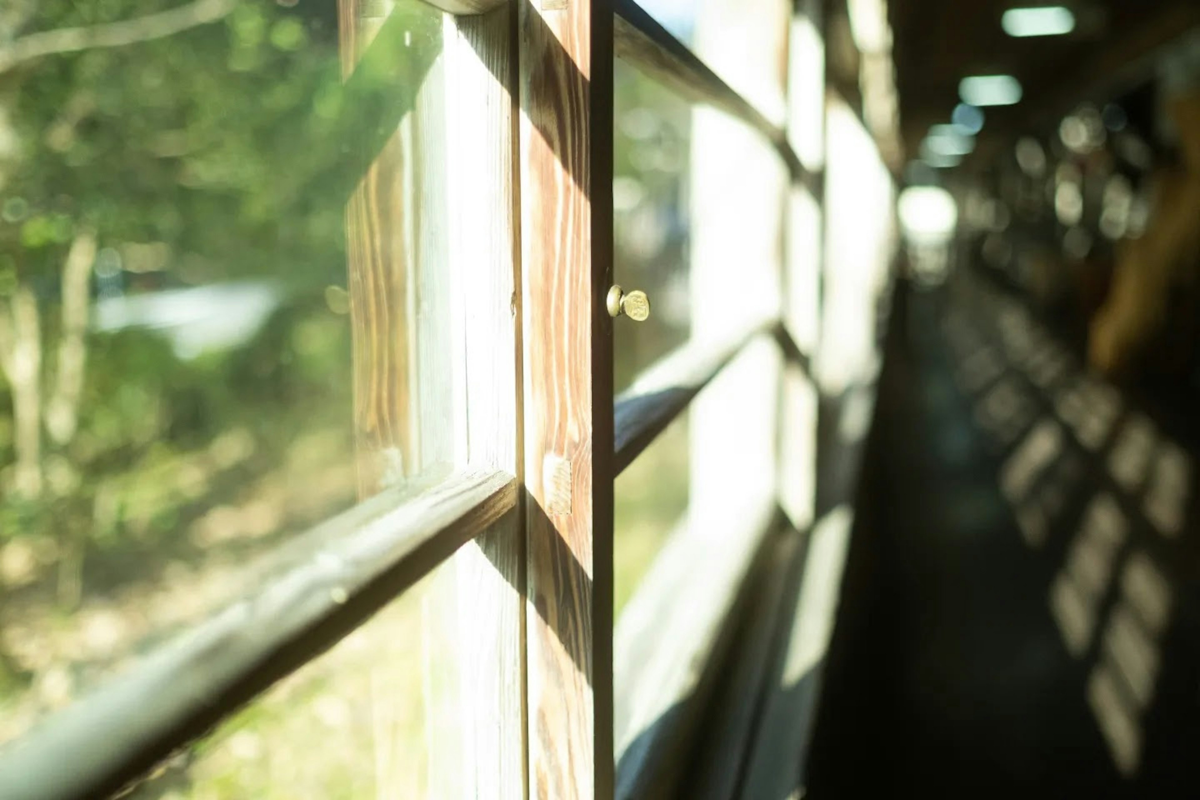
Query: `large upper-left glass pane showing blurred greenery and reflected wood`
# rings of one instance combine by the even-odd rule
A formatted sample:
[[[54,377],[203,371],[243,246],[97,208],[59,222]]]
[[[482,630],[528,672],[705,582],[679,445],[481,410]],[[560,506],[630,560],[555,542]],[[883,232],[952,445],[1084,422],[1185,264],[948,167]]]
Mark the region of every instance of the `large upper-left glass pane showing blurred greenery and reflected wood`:
[[[445,136],[420,102],[443,91],[443,16],[365,16],[361,64],[386,70],[343,82],[337,4],[208,6],[0,76],[0,741],[358,495],[449,469],[446,204],[420,150]],[[17,4],[0,41],[178,7]],[[384,242],[348,231],[347,203],[380,148],[371,284],[347,263]],[[380,306],[404,336],[372,338]]]

